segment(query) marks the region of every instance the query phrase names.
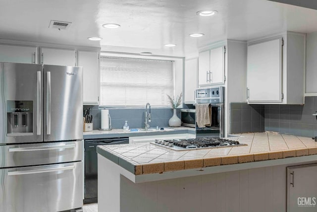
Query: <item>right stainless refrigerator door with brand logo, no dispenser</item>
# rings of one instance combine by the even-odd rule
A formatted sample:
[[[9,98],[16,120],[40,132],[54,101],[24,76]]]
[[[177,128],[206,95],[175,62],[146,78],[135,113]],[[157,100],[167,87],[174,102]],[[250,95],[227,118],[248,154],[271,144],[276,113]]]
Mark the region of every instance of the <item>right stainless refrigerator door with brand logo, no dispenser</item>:
[[[83,69],[44,65],[44,141],[83,139]]]

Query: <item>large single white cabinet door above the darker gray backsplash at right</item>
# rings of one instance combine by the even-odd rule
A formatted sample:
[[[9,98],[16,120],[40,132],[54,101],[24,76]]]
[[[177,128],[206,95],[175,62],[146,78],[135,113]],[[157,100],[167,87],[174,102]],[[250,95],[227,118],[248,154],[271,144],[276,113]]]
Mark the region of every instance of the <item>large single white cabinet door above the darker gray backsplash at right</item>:
[[[282,37],[248,46],[247,98],[282,102]]]

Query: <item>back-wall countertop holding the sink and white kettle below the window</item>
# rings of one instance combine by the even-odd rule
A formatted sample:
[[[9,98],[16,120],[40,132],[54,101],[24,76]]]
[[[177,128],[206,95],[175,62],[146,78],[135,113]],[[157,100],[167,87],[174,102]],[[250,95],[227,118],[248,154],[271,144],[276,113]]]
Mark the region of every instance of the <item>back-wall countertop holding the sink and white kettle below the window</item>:
[[[133,136],[157,136],[157,135],[172,135],[172,134],[195,134],[195,128],[189,127],[164,127],[164,131],[124,131],[123,129],[112,129],[109,131],[93,130],[84,132],[84,139],[104,139],[116,137],[133,137]]]

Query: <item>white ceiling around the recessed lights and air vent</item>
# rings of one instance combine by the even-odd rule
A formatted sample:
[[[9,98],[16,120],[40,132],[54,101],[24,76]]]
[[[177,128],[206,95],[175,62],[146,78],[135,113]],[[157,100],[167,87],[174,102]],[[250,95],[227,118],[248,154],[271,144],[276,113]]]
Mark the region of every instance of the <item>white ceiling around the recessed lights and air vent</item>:
[[[201,17],[198,10],[214,9]],[[268,0],[2,0],[0,38],[102,47],[104,51],[185,57],[223,39],[317,31],[317,10]],[[67,30],[51,20],[72,22]],[[117,23],[119,29],[102,24]],[[201,38],[190,33],[204,33]],[[89,41],[87,37],[103,37]],[[176,47],[164,47],[175,43]]]

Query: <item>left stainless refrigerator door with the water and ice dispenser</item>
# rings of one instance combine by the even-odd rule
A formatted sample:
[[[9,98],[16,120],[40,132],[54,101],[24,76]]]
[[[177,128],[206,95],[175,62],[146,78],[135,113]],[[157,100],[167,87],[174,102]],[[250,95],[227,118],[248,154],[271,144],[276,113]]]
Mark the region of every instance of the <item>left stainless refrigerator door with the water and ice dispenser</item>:
[[[0,143],[43,141],[43,69],[0,63]]]

